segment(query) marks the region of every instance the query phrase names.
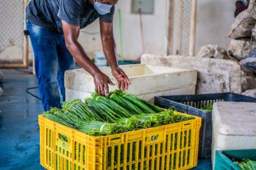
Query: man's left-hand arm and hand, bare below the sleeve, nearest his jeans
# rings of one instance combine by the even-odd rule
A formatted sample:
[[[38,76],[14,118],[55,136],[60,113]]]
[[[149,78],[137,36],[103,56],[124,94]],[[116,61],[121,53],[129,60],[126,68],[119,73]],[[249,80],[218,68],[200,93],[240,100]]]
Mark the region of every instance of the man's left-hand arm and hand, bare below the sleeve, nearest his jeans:
[[[98,67],[91,61],[91,59],[86,55],[86,51],[78,42],[78,36],[80,33],[79,26],[72,26],[65,21],[62,21],[62,28],[64,32],[64,38],[66,47],[71,53],[75,61],[84,68],[91,76],[93,76],[95,81],[95,91],[99,94],[105,96],[109,94],[109,86],[114,85],[114,83],[107,77]]]

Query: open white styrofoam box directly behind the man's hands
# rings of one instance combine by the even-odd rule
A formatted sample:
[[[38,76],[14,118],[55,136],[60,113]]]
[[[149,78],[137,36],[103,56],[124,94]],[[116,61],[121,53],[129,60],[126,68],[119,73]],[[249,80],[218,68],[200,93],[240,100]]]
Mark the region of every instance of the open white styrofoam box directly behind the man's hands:
[[[197,72],[189,69],[178,69],[164,66],[152,66],[144,64],[121,65],[123,71],[131,81],[129,92],[136,96],[149,94],[163,94],[174,90],[174,94],[194,94],[196,90]],[[110,67],[101,67],[111,81],[116,85],[109,85],[109,90],[118,88],[115,78],[111,74]],[[82,95],[95,92],[93,77],[84,69],[75,69],[65,72],[66,99],[82,98]],[[72,90],[72,91],[70,91]]]

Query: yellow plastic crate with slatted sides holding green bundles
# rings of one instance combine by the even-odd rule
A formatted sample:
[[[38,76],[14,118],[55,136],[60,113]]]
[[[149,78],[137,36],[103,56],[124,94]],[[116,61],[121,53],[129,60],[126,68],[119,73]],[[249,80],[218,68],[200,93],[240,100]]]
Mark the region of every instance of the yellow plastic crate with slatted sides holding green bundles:
[[[42,115],[39,126],[41,165],[46,169],[161,170],[197,165],[200,117],[103,137],[86,135]]]

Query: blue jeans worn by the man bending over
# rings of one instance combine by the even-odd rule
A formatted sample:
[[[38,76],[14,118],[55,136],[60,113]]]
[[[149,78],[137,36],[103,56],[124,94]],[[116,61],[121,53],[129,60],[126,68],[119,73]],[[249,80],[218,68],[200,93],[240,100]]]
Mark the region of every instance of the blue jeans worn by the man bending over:
[[[64,72],[75,63],[65,45],[64,35],[26,22],[35,57],[35,73],[44,111],[61,108],[60,94],[65,101]],[[58,87],[59,85],[59,87]]]

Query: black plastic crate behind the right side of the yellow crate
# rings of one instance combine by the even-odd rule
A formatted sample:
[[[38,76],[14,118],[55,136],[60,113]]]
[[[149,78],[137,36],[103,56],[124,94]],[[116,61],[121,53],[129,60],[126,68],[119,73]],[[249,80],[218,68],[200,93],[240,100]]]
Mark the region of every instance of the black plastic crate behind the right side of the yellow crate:
[[[211,157],[212,151],[212,111],[201,110],[203,106],[212,105],[216,101],[235,101],[256,103],[256,98],[251,98],[232,92],[215,94],[194,94],[179,96],[158,96],[154,104],[162,108],[174,108],[178,112],[202,117],[200,130],[199,157]]]

